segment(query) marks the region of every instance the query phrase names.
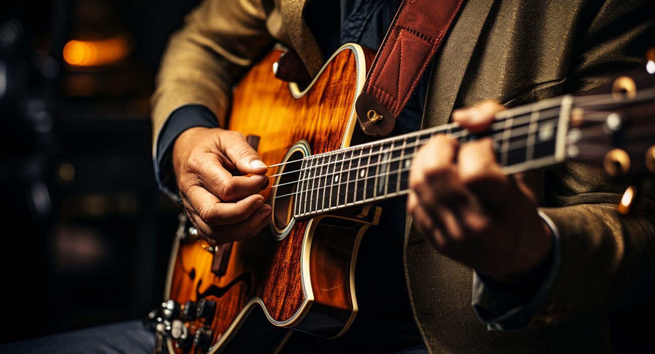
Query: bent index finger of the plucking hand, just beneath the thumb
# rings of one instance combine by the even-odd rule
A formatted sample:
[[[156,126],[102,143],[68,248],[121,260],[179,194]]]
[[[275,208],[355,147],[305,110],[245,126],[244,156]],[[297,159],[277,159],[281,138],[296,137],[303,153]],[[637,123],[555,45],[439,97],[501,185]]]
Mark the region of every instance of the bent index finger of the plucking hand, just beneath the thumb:
[[[207,161],[208,163],[200,167],[198,176],[202,186],[221,201],[238,201],[259,193],[269,185],[269,178],[262,174],[232,176],[221,166],[219,158],[214,154],[208,154]]]

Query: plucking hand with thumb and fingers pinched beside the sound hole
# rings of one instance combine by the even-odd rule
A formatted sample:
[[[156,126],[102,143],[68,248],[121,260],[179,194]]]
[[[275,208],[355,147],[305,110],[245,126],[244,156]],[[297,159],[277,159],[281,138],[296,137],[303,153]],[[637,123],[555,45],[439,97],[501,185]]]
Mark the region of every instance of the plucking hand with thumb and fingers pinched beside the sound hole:
[[[187,215],[211,245],[248,239],[271,222],[271,206],[257,194],[269,184],[267,167],[243,134],[187,129],[173,147],[173,167]],[[235,168],[252,176],[233,176]]]

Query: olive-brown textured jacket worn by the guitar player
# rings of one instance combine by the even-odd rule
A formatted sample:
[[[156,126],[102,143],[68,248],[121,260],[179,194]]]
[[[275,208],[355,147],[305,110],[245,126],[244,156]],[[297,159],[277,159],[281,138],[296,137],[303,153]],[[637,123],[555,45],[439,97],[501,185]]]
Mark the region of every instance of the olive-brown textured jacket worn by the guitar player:
[[[321,52],[303,20],[307,3],[209,0],[189,14],[157,78],[155,147],[166,117],[185,104],[210,108],[225,127],[231,87],[274,41],[316,73],[331,53]],[[454,108],[483,100],[517,106],[599,87],[643,65],[653,14],[651,0],[468,0],[435,56],[422,125],[444,124]],[[649,344],[652,332],[645,336],[635,321],[652,318],[643,311],[655,292],[652,179],[641,188],[643,214],[622,217],[615,206],[623,189],[599,168],[566,163],[534,175],[540,210],[559,232],[559,256],[525,329],[487,330],[472,293],[477,305],[493,307],[493,299],[474,271],[434,250],[408,217],[407,288],[432,353],[598,353]]]

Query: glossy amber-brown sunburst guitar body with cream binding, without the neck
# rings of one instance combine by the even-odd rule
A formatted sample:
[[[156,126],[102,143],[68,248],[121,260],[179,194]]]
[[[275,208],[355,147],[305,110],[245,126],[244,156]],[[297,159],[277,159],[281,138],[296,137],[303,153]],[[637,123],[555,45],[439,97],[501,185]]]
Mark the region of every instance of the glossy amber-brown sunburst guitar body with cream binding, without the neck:
[[[229,128],[259,136],[257,152],[267,165],[284,161],[303,140],[306,147],[298,151],[305,155],[350,146],[358,124],[354,102],[372,53],[345,45],[303,91],[274,77],[273,64],[282,53],[272,50],[239,83]],[[269,169],[268,175],[281,168]],[[271,189],[262,194],[269,199]],[[283,204],[274,205],[274,210]],[[212,321],[185,323],[190,335],[202,326],[212,330],[211,344],[204,348],[210,353],[274,352],[288,338],[288,328],[325,338],[341,336],[357,313],[358,246],[365,229],[377,224],[380,211],[364,205],[293,220],[286,229],[272,226],[253,239],[233,243],[223,255],[229,256],[224,274],[212,272],[214,252],[191,237],[178,239],[166,299],[182,305],[200,298],[215,302]],[[195,344],[187,351],[174,344],[167,340],[169,351],[196,351]]]

